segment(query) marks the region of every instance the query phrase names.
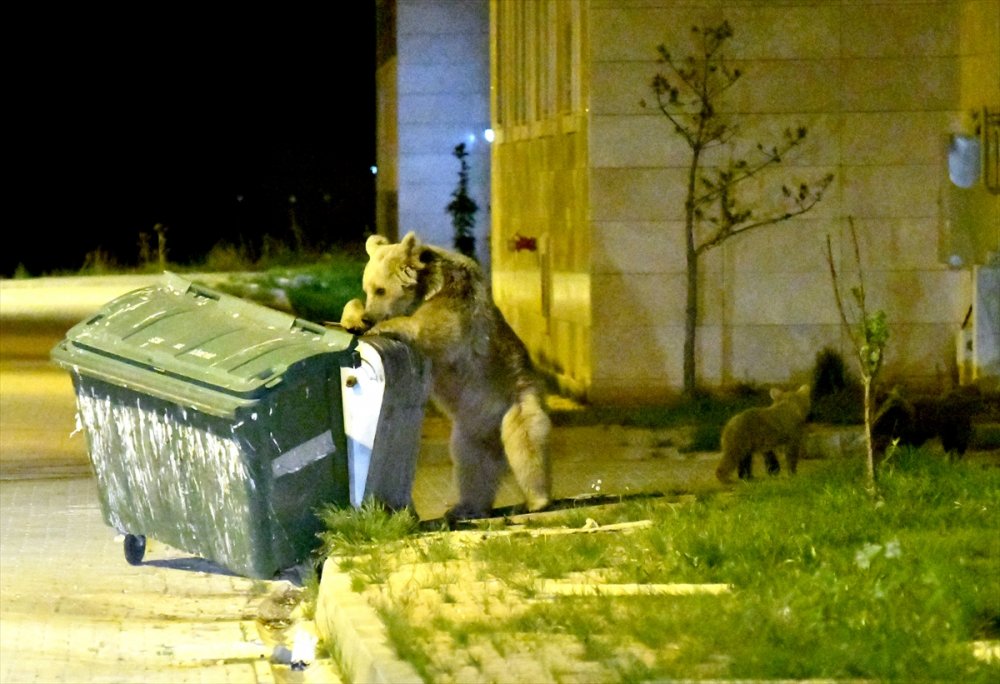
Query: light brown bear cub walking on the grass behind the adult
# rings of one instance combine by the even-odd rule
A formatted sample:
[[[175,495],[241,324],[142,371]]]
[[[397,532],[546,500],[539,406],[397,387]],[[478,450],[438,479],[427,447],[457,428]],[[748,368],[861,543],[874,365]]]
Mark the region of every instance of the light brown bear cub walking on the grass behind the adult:
[[[771,390],[772,403],[766,408],[751,408],[729,419],[722,430],[722,460],[715,469],[720,482],[729,483],[733,471],[749,479],[756,453],[763,453],[767,470],[779,470],[774,451],[783,449],[785,465],[795,474],[802,443],[803,428],[809,415],[809,385],[795,391]]]

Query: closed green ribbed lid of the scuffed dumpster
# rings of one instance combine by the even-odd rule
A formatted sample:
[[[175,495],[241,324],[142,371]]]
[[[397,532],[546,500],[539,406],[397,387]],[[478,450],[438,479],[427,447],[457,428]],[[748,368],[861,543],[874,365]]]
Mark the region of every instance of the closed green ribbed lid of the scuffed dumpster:
[[[294,364],[355,345],[342,330],[166,273],[71,328],[53,357],[98,376],[118,362],[253,399]]]

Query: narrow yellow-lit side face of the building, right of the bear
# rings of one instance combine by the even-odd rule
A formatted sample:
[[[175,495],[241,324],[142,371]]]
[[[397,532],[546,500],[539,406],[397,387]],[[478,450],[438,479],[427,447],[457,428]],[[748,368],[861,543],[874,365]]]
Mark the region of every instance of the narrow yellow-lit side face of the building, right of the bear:
[[[494,2],[491,17],[493,295],[535,358],[581,394],[593,366],[583,7]]]

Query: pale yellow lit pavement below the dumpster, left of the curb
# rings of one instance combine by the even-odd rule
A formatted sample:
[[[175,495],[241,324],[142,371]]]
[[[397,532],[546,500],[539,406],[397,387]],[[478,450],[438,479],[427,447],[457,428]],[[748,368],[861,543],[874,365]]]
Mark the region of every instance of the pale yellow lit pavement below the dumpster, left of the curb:
[[[337,682],[272,664],[258,620],[288,582],[151,540],[126,563],[91,478],[0,481],[0,682]]]

